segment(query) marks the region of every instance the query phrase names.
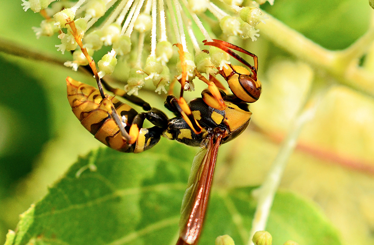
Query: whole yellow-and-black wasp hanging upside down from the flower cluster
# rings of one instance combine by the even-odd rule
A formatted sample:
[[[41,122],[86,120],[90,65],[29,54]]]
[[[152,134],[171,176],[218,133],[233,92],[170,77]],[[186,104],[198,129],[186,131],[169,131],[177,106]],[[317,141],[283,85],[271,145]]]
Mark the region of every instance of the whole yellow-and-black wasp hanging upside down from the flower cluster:
[[[118,151],[140,153],[153,147],[163,136],[189,146],[202,147],[194,157],[184,194],[177,245],[197,244],[208,205],[218,148],[247,128],[252,114],[248,103],[257,101],[261,94],[256,55],[220,40],[205,41],[204,44],[224,50],[245,64],[250,71],[231,64],[218,71],[217,74],[229,84],[233,92],[231,95],[217,88],[214,90],[213,83],[216,82],[213,81],[213,76],[209,81],[205,81],[205,77],[196,73],[201,80],[205,79],[209,89],[203,90],[202,97],[194,98],[188,104],[185,103],[182,93],[180,99],[168,95],[165,107],[175,114],[172,119],[163,111],[150,107],[142,99],[128,96],[125,91],[114,89],[105,82],[102,84],[108,91],[141,105],[145,111],[138,113],[115,96],[105,95],[101,90],[70,77],[66,79],[67,97],[73,113],[103,144]],[[231,49],[252,56],[254,65],[246,62]],[[143,128],[145,119],[154,126]]]

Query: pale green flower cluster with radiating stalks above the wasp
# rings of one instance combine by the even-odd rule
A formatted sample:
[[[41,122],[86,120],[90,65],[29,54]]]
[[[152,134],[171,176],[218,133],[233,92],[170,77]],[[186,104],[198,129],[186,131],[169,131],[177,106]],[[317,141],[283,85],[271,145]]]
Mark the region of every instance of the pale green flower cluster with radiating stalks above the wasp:
[[[97,63],[99,77],[112,74],[117,63],[126,64],[129,68],[125,90],[135,95],[149,80],[156,86],[156,92],[166,93],[165,86],[174,77],[181,79],[181,62],[173,58],[178,55],[172,44],[181,43],[183,47],[185,89],[193,90],[195,69],[208,74],[215,67],[222,69],[229,64],[227,53],[218,48],[202,52],[208,48],[203,46],[202,37],[211,41],[237,36],[254,41],[259,36],[256,25],[267,18],[258,2],[241,6],[242,0],[22,1],[25,11],[40,12],[46,18],[40,27],[33,28],[37,38],[58,33],[61,43],[55,45],[57,50],[73,52],[73,60],[65,62],[66,66],[77,70],[79,65],[88,64],[72,35],[74,22],[90,56],[105,46],[111,48]],[[212,32],[203,22],[217,24],[222,32]]]

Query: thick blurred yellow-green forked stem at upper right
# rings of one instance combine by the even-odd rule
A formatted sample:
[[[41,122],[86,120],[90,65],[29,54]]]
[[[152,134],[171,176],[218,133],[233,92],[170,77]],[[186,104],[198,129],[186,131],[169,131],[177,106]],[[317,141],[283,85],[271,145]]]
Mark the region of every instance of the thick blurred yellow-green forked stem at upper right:
[[[367,33],[350,47],[331,51],[307,39],[268,13],[267,16],[269,19],[266,24],[258,24],[261,34],[298,58],[328,71],[339,83],[374,97],[374,72],[365,71],[358,65],[359,58],[374,41],[374,18]]]

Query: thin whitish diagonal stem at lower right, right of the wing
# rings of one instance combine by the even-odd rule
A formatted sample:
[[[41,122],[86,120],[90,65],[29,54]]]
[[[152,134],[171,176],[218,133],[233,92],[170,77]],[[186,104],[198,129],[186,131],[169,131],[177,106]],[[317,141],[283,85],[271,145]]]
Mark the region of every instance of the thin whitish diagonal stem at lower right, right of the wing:
[[[304,104],[302,110],[295,116],[290,131],[285,140],[283,140],[278,155],[274,159],[267,177],[262,186],[255,190],[254,195],[257,195],[258,203],[252,221],[251,232],[249,233],[248,245],[254,245],[252,237],[255,232],[265,230],[270,209],[273,205],[274,196],[278,190],[279,183],[281,182],[286,163],[296,147],[297,138],[300,135],[301,129],[314,117],[319,101],[321,101],[321,98],[324,96],[326,91],[327,89],[324,89],[323,92],[317,92],[313,97],[309,97],[310,99],[306,104]]]

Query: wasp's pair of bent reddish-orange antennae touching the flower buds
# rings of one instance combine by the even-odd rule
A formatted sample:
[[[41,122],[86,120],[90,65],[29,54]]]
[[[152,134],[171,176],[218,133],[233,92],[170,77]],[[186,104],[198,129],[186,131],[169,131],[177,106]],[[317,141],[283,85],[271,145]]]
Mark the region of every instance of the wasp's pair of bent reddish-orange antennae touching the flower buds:
[[[221,40],[217,40],[217,39],[213,39],[214,42],[206,42],[206,40],[203,41],[204,45],[208,45],[208,46],[215,46],[217,48],[220,48],[222,49],[223,51],[225,51],[226,53],[228,53],[229,55],[233,56],[235,59],[237,59],[238,61],[242,62],[244,65],[248,66],[249,69],[251,69],[253,75],[251,75],[252,79],[256,80],[257,79],[257,68],[258,68],[258,61],[257,61],[257,56],[243,48],[240,48],[236,45],[233,45],[231,43],[228,43],[228,42],[225,42],[225,41],[221,41]],[[232,50],[230,49],[234,49],[234,50],[237,50],[239,52],[242,52],[242,53],[245,53],[249,56],[251,56],[253,58],[253,61],[254,61],[254,66],[249,64],[247,61],[245,61],[245,59],[243,59],[242,57],[240,57],[239,55],[237,55],[236,53],[234,53]]]

